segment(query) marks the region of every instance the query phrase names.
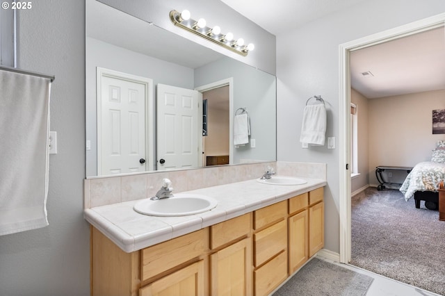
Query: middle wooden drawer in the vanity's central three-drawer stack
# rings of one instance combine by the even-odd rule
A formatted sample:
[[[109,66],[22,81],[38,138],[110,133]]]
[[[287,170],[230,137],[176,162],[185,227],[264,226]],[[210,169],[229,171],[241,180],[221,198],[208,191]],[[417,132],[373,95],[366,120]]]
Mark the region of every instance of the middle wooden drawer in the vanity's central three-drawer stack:
[[[254,266],[268,261],[270,258],[287,249],[287,223],[282,220],[254,234]]]

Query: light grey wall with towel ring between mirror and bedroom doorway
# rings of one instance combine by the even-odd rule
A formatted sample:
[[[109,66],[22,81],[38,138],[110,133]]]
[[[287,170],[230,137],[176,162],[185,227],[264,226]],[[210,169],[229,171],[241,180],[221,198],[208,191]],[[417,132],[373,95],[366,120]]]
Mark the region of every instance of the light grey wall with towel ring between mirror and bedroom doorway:
[[[344,164],[339,163],[339,149],[301,148],[305,102],[321,94],[328,108],[327,135],[338,140],[339,44],[444,11],[442,0],[366,1],[277,35],[277,159],[327,163],[326,249],[339,252],[339,172]]]

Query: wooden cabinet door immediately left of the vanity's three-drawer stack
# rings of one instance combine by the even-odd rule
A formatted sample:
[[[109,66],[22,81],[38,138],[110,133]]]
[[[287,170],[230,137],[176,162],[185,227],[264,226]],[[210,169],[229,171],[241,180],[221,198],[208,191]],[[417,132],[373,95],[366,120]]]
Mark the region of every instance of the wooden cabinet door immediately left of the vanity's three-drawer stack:
[[[211,254],[211,295],[252,295],[251,245],[245,238]]]

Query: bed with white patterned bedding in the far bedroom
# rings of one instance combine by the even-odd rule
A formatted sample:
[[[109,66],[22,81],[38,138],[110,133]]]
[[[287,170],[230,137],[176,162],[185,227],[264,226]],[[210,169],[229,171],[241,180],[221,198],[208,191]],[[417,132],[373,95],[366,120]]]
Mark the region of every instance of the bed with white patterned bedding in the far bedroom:
[[[414,197],[416,208],[421,200],[426,208],[437,210],[439,207],[439,183],[445,180],[445,141],[437,141],[432,150],[431,161],[417,163],[407,175],[400,191],[408,201]]]

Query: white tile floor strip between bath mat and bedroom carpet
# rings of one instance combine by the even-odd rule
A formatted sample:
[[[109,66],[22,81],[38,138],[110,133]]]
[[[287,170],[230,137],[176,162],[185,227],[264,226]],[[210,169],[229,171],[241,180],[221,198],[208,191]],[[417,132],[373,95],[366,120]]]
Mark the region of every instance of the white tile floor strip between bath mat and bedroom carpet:
[[[340,265],[343,268],[348,268],[350,270],[354,270],[355,272],[359,272],[362,274],[366,274],[369,277],[373,277],[373,279],[374,279],[373,283],[371,283],[371,287],[369,287],[369,290],[368,290],[368,293],[366,293],[366,296],[440,296],[440,295],[437,295],[436,293],[432,293],[432,292],[423,290],[421,288],[410,286],[407,283],[401,283],[400,281],[396,281],[394,279],[389,279],[387,277],[383,277],[380,274],[375,274],[373,272],[363,270],[362,268],[356,268],[353,265],[334,262],[334,261],[324,258],[320,255],[317,255],[317,257],[321,258],[327,262]]]

